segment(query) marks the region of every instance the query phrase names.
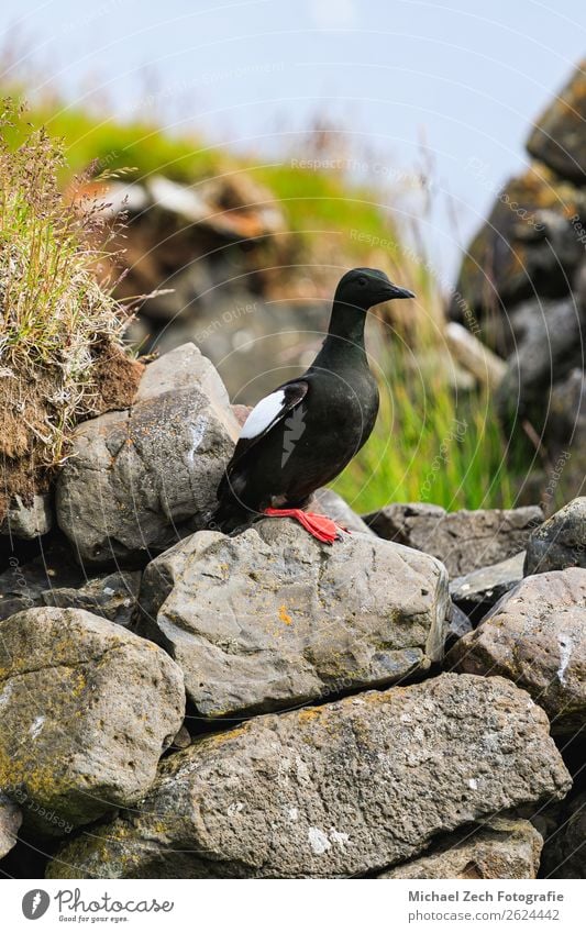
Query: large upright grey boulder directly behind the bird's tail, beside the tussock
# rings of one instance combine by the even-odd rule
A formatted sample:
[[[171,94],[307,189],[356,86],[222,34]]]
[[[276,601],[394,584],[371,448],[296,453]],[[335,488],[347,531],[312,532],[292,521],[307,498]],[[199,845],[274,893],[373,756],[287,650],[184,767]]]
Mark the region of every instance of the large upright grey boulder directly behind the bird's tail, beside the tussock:
[[[81,424],[57,519],[84,564],[136,563],[202,527],[239,429],[211,363],[186,344],[146,367],[132,408]]]

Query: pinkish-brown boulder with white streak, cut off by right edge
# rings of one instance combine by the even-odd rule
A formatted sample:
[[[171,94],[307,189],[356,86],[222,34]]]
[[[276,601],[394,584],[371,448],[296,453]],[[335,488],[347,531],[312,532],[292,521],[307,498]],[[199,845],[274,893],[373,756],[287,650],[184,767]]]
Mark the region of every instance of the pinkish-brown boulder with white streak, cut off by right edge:
[[[526,577],[464,635],[445,666],[498,674],[528,690],[550,717],[552,733],[586,724],[586,570]]]

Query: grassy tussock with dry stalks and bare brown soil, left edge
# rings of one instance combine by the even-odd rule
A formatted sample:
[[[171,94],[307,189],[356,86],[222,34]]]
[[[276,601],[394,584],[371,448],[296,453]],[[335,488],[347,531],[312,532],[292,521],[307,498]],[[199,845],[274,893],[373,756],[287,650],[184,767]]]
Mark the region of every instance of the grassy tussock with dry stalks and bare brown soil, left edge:
[[[129,359],[126,366],[125,357],[121,362],[120,334],[128,314],[106,277],[111,252],[103,204],[75,196],[64,199],[57,182],[65,162],[63,145],[44,129],[23,133],[24,122],[23,108],[3,100],[0,518],[12,496],[30,500],[46,484],[67,454],[75,424],[128,403],[140,378],[137,364]],[[122,398],[109,385],[110,365],[114,379],[123,370]]]

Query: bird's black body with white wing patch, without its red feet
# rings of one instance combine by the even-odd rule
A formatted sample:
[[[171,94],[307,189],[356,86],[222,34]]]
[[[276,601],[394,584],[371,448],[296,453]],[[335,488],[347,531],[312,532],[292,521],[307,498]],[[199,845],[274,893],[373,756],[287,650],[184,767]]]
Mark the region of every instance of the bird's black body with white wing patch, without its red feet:
[[[248,415],[218,488],[209,527],[230,533],[265,509],[303,508],[368,438],[378,388],[364,347],[366,312],[412,292],[378,269],[352,269],[335,290],[328,336],[302,376],[279,386]]]

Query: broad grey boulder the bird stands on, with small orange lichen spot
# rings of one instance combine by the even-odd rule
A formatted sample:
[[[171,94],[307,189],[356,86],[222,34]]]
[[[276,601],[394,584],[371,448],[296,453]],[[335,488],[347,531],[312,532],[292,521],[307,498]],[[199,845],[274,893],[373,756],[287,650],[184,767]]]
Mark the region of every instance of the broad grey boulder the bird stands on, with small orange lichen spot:
[[[145,633],[204,717],[385,686],[439,660],[447,577],[411,548],[351,534],[320,544],[290,519],[198,532],[145,570]]]

